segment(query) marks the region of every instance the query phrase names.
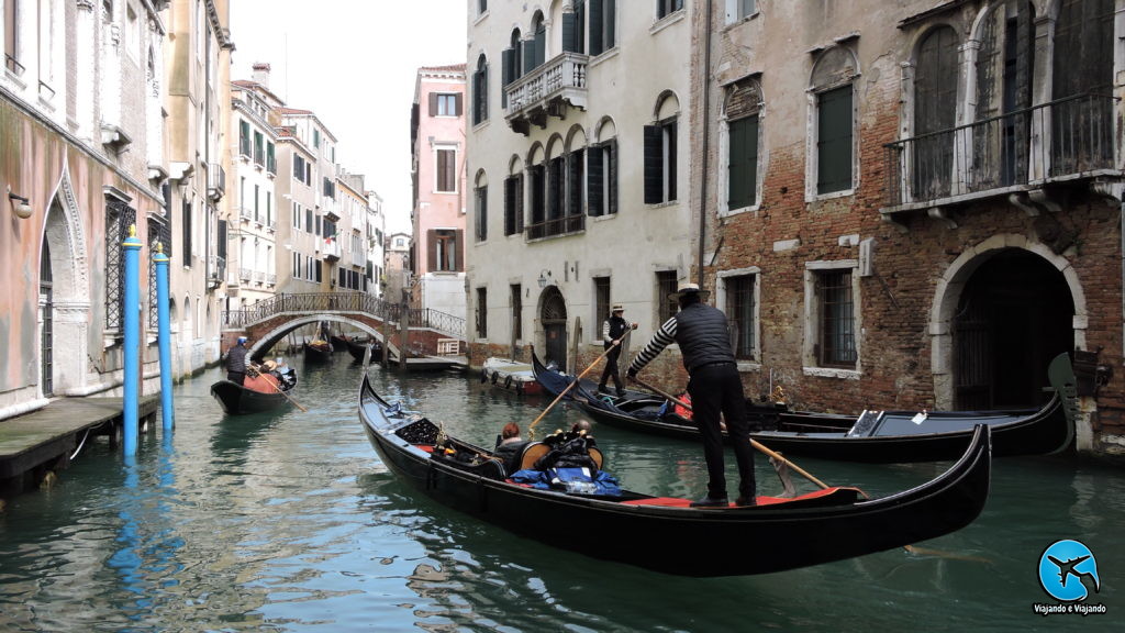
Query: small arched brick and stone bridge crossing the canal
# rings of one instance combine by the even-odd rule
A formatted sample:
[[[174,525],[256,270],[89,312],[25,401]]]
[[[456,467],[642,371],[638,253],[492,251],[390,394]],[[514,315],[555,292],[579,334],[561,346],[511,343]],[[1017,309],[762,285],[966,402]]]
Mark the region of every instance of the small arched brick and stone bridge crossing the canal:
[[[367,332],[394,356],[398,356],[404,340],[416,354],[465,353],[465,319],[366,293],[282,293],[245,310],[224,311],[223,349],[245,336],[251,344],[250,356],[260,360],[289,332],[325,321]]]

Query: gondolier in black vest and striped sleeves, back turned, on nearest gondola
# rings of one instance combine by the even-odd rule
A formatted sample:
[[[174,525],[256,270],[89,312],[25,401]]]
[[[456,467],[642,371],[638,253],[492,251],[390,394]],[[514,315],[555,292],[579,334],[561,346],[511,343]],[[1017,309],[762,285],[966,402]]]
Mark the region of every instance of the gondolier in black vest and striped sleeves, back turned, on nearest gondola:
[[[703,303],[704,292],[696,284],[681,284],[669,296],[680,302],[680,313],[660,326],[645,349],[629,365],[627,375],[637,376],[668,345],[680,344],[684,368],[690,376],[687,393],[700,435],[703,436],[703,457],[706,460],[708,494],[692,507],[723,507],[727,500],[727,476],[722,460],[722,430],[719,413],[726,418],[727,433],[735,445],[740,478],[738,506],[755,503],[754,453],[750,447],[749,424],[746,419],[746,396],[742,381],[730,347],[730,330],[722,311]]]

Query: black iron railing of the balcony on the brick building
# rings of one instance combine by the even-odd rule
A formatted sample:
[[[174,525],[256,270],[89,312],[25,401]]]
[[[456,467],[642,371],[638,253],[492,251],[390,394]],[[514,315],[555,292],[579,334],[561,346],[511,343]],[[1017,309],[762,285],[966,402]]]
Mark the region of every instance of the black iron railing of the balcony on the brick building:
[[[888,143],[886,204],[934,203],[1113,170],[1117,100],[1079,95]]]

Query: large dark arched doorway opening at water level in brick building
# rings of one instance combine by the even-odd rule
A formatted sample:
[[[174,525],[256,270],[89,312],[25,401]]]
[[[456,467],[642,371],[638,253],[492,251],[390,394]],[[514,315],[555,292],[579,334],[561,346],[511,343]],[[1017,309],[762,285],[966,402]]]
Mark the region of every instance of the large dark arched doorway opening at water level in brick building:
[[[953,318],[954,408],[1042,404],[1051,359],[1074,349],[1074,300],[1050,261],[1001,249],[965,280]]]

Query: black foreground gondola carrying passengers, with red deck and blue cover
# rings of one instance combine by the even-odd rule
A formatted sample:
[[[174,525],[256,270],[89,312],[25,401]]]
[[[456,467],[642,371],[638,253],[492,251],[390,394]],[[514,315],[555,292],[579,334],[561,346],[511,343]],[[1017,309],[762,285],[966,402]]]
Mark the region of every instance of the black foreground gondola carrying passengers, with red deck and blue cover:
[[[359,418],[382,463],[441,503],[549,545],[680,576],[770,573],[935,538],[969,525],[989,492],[983,425],[945,473],[910,490],[861,499],[858,489],[829,488],[702,509],[628,490],[588,494],[514,483],[488,451],[443,437],[429,419],[376,393],[366,373]]]

